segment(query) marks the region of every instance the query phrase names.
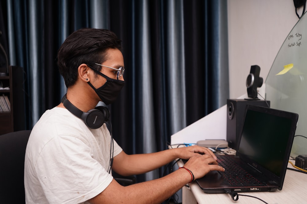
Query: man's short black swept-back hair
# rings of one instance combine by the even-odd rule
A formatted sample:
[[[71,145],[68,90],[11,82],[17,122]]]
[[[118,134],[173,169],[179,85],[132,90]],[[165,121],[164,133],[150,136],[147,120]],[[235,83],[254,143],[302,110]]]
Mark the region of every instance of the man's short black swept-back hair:
[[[66,87],[76,83],[78,67],[83,63],[100,71],[101,66],[95,66],[95,63],[102,64],[106,60],[109,48],[122,48],[121,40],[110,30],[81,28],[69,35],[57,55],[60,74]]]

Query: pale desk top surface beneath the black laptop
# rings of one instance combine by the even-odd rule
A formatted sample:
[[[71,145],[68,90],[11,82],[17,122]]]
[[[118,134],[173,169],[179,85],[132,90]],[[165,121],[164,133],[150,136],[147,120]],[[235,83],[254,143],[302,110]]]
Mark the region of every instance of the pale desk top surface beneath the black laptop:
[[[177,163],[179,166],[183,166],[182,161],[178,161]],[[289,163],[288,167],[292,168],[292,165]],[[182,189],[182,204],[264,203],[256,198],[250,198],[246,196],[239,196],[237,201],[233,201],[231,199],[231,195],[226,193],[204,193],[196,181],[193,181],[188,185],[190,189],[188,189],[188,187],[183,187]],[[281,191],[277,190],[274,192],[237,193],[255,196],[270,204],[307,203],[307,174],[287,169],[286,177]]]

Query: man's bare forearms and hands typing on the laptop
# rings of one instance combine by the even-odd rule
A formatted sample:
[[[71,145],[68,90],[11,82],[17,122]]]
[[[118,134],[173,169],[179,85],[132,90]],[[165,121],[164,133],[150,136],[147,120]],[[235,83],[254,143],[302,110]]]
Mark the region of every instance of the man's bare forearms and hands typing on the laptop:
[[[115,157],[114,168],[124,174],[140,173],[158,168],[178,157],[189,159],[185,163],[185,169],[181,168],[162,178],[127,187],[121,186],[113,179],[103,192],[89,201],[92,203],[161,203],[191,180],[201,178],[209,171],[224,171],[221,166],[217,165],[215,155],[210,150],[202,147],[178,148],[134,156],[121,152]],[[149,167],[142,168],[143,166]],[[121,169],[124,170],[121,171]]]

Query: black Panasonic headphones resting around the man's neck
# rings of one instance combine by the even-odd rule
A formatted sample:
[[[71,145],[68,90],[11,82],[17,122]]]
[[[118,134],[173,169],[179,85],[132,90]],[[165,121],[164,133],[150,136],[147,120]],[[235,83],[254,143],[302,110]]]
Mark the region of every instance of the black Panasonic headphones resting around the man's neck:
[[[109,120],[109,109],[107,107],[97,106],[95,107],[95,109],[83,112],[82,110],[74,106],[70,101],[68,101],[68,99],[66,98],[66,94],[63,96],[61,101],[64,107],[69,110],[69,112],[81,118],[89,128],[100,128],[103,123]]]

